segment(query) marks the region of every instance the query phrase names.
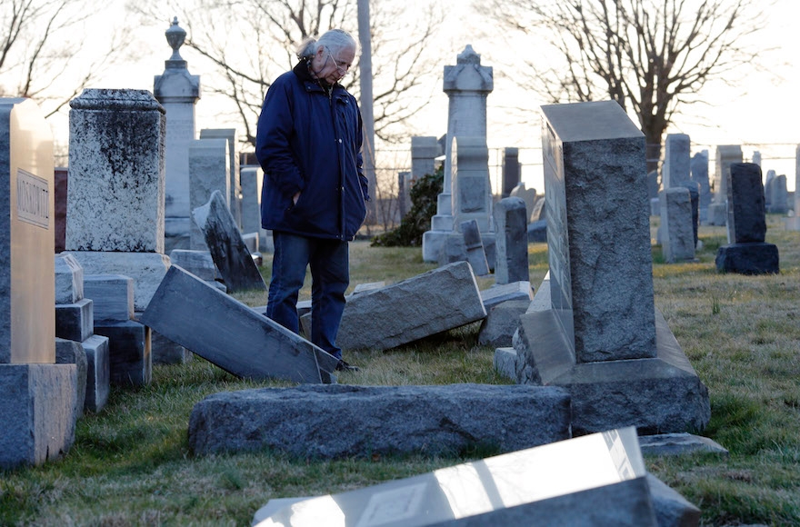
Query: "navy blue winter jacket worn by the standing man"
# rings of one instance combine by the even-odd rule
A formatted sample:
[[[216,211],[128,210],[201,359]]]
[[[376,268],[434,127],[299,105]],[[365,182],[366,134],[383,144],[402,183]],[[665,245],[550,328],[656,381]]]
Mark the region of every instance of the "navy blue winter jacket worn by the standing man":
[[[355,237],[369,199],[361,126],[355,97],[339,84],[326,92],[305,61],[275,79],[255,137],[255,154],[264,169],[265,229],[315,238]],[[297,192],[300,198],[293,204]]]

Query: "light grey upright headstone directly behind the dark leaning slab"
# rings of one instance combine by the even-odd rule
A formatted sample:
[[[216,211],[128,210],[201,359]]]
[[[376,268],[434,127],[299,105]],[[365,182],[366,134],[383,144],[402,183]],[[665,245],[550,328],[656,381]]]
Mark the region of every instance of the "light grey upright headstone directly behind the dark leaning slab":
[[[223,202],[236,223],[236,216],[231,210],[230,159],[228,141],[222,139],[196,139],[189,145],[189,204],[194,211],[197,207],[208,203],[211,194],[218,190]],[[241,222],[237,223],[241,228]],[[195,222],[192,222],[189,248],[192,251],[207,251],[205,234]]]

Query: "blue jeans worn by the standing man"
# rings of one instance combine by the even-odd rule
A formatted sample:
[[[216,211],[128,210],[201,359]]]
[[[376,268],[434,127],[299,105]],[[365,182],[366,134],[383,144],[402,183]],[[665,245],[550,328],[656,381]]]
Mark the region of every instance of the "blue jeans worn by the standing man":
[[[299,333],[297,293],[303,287],[305,268],[311,265],[311,342],[342,358],[336,333],[345,311],[345,291],[350,283],[347,242],[307,238],[273,231],[275,254],[266,303],[266,316],[289,331]]]

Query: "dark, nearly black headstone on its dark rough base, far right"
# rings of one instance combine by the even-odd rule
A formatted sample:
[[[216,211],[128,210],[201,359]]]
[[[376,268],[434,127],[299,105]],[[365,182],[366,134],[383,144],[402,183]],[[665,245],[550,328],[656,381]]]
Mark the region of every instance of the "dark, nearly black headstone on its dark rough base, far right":
[[[779,273],[778,248],[766,244],[764,186],[755,163],[731,164],[728,191],[728,244],[716,253],[720,272]]]

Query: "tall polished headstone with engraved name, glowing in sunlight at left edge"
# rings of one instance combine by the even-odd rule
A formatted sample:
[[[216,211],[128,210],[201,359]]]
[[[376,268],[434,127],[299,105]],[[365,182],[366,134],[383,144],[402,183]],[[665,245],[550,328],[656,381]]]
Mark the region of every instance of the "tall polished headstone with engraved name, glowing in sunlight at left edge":
[[[55,362],[53,179],[45,115],[0,98],[0,364]]]

